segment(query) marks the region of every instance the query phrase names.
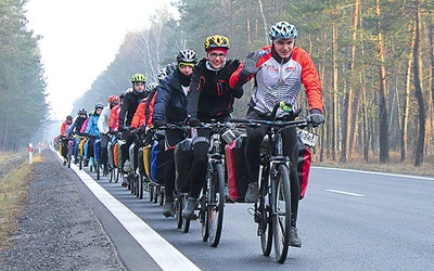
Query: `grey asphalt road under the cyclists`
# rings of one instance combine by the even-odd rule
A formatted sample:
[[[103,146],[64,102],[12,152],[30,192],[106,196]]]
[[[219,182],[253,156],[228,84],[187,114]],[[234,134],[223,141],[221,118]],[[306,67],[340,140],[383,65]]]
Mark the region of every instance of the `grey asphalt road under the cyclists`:
[[[95,179],[93,172],[89,175]],[[136,218],[115,218],[116,211],[107,210],[73,170],[69,176],[128,270],[174,270],[167,262],[182,270],[177,263],[180,257],[202,270],[434,270],[434,178],[312,168],[299,207],[303,247],[290,248],[289,258],[280,264],[272,253],[261,255],[250,204],[226,206],[221,241],[213,248],[202,242],[199,221],[182,233],[175,219],[161,215],[162,206],[149,202],[146,193],[138,199],[119,183],[99,180],[140,223],[144,221],[168,242],[161,246],[145,228],[136,228],[145,229],[136,231],[139,237],[131,235],[128,229],[135,231],[135,227],[128,223]],[[146,242],[148,251],[142,248]]]

